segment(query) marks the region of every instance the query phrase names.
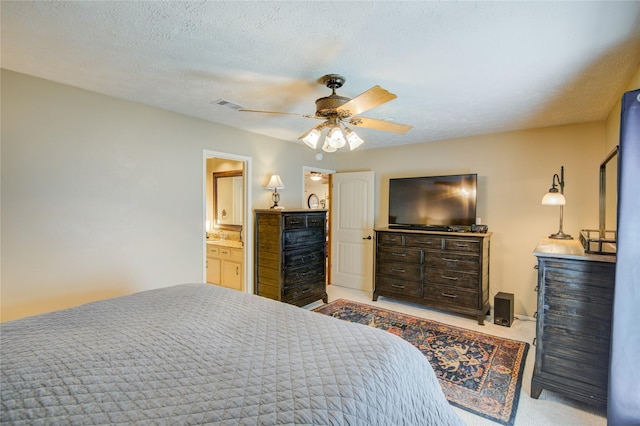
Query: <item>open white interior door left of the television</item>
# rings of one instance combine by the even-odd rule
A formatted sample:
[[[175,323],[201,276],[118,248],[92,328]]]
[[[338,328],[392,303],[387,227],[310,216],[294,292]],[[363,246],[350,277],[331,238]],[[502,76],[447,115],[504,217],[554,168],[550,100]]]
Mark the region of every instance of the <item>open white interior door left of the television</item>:
[[[373,291],[373,172],[336,173],[331,198],[331,284]]]

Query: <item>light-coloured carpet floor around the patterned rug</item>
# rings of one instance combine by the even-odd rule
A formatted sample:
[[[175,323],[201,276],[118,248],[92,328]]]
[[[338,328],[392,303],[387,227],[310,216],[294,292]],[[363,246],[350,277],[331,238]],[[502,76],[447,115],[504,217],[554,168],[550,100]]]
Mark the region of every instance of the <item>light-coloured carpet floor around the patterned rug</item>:
[[[532,318],[521,318],[519,320],[515,320],[511,327],[502,327],[495,325],[490,321],[485,321],[485,325],[481,326],[478,325],[478,322],[471,317],[451,315],[417,304],[406,303],[385,297],[380,297],[377,302],[373,302],[371,300],[371,294],[345,287],[330,285],[327,286],[327,293],[329,294],[329,301],[336,299],[348,299],[355,302],[368,303],[370,305],[379,306],[392,311],[440,321],[445,324],[475,330],[481,333],[521,340],[523,342],[528,342],[529,344],[533,343],[533,338],[536,333],[535,320]],[[312,309],[321,303],[322,302],[318,302],[309,305],[308,308]],[[606,426],[606,413],[589,405],[564,398],[547,390],[542,391],[539,399],[531,398],[529,395],[531,391],[531,375],[533,372],[534,362],[535,346],[531,345],[525,364],[520,402],[518,403],[518,411],[514,426]],[[454,409],[469,426],[494,426],[499,424],[471,414],[468,411],[456,407],[454,407]]]

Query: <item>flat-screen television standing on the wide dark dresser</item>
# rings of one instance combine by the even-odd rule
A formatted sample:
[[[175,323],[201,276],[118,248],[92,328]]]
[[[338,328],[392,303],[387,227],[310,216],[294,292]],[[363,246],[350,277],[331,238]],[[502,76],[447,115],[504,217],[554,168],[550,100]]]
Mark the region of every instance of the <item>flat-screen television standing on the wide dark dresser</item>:
[[[389,179],[389,227],[447,229],[476,221],[477,174]]]

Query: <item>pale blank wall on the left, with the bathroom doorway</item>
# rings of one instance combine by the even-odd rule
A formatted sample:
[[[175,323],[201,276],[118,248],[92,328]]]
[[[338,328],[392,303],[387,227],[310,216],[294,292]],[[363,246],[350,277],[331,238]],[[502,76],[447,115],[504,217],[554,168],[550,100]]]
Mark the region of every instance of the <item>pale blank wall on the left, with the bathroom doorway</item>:
[[[202,282],[203,152],[253,158],[253,206],[301,205],[315,152],[2,70],[2,320]],[[212,112],[214,113],[214,112]]]

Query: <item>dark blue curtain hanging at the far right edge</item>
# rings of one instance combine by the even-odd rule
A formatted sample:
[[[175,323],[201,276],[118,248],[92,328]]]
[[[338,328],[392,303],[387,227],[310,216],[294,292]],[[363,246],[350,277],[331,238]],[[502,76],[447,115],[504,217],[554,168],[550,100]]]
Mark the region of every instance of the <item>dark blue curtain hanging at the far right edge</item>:
[[[640,425],[640,90],[622,97],[608,424]]]

